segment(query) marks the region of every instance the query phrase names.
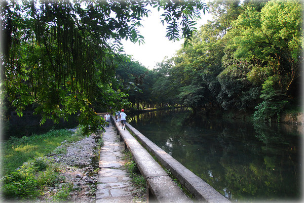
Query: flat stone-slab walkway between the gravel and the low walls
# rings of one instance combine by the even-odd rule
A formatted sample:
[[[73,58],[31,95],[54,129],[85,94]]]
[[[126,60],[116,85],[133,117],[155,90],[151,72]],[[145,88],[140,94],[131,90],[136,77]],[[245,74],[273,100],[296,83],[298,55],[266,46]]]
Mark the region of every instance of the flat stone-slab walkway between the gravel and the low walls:
[[[131,178],[124,168],[124,143],[110,125],[102,134],[103,146],[100,151],[96,203],[133,202]]]

